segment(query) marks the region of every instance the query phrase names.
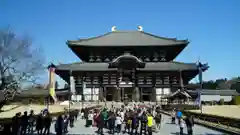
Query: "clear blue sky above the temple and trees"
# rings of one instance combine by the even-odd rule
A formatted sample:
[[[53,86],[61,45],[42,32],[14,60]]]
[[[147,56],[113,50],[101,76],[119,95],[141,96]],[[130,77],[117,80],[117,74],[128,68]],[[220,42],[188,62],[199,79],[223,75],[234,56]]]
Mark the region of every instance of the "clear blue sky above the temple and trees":
[[[41,45],[47,63],[79,61],[66,40],[118,30],[188,39],[177,61],[208,62],[204,80],[240,75],[239,0],[1,0],[0,27]],[[47,82],[47,73],[43,81]]]

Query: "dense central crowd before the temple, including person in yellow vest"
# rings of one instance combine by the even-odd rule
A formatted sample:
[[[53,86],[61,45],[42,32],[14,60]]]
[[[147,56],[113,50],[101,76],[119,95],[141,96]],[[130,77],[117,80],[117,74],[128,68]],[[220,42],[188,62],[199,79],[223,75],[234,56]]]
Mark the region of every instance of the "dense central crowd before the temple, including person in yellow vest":
[[[153,130],[158,132],[161,128],[162,115],[156,108],[138,107],[95,109],[94,111],[82,111],[86,119],[86,126],[97,126],[98,134],[103,134],[103,128],[109,130],[110,134],[128,133],[152,135]],[[153,125],[156,128],[153,129]]]

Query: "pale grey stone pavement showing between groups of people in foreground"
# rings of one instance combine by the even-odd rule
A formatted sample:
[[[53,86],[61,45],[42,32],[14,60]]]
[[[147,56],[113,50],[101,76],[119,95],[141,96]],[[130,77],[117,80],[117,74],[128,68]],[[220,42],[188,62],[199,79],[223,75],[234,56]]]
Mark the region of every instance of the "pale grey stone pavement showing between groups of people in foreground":
[[[178,135],[179,134],[179,128],[177,125],[170,124],[170,117],[163,115],[163,123],[161,131],[158,133],[153,133],[153,135]],[[84,120],[78,120],[75,123],[74,128],[69,128],[69,133],[67,135],[96,135],[95,131],[97,130],[95,127],[93,128],[86,128],[84,126]],[[54,124],[52,124],[54,125]],[[107,130],[104,131],[105,135],[108,135]],[[186,133],[186,129],[184,130],[184,133]],[[51,133],[55,134],[54,132],[54,126],[51,128]],[[194,135],[224,135],[223,133],[195,125],[194,126]],[[123,134],[121,134],[123,135]],[[126,134],[127,135],[127,134]],[[187,134],[186,134],[187,135]]]

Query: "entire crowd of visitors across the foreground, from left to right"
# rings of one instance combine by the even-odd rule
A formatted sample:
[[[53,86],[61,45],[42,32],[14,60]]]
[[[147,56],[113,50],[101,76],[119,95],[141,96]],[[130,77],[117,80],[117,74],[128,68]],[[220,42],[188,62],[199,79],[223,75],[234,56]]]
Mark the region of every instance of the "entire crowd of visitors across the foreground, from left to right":
[[[103,135],[103,129],[107,129],[109,134],[144,134],[152,135],[153,132],[161,130],[163,117],[160,113],[160,107],[152,106],[136,106],[121,108],[102,108],[102,109],[81,109],[66,111],[65,114],[59,115],[57,118],[52,118],[47,109],[40,114],[35,115],[31,110],[28,114],[25,111],[23,114],[16,113],[12,118],[11,123],[4,125],[2,134],[6,135],[31,135],[37,133],[38,135],[49,135],[50,127],[55,122],[55,132],[57,135],[63,135],[68,132],[68,127],[74,127],[74,121],[80,115],[82,119],[86,120],[86,127],[97,127],[97,133]],[[177,123],[176,123],[177,121]],[[193,117],[186,114],[183,118],[180,110],[173,110],[172,124],[179,126],[180,135],[183,135],[183,130],[187,127],[188,135],[193,134],[192,127],[194,126]]]

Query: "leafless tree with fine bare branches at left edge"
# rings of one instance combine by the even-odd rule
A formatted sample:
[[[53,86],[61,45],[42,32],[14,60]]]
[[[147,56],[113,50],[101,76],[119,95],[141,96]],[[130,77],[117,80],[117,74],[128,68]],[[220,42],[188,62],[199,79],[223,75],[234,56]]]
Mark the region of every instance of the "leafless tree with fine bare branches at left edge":
[[[0,29],[0,90],[5,100],[14,97],[23,83],[35,83],[44,71],[42,50],[29,37]]]

